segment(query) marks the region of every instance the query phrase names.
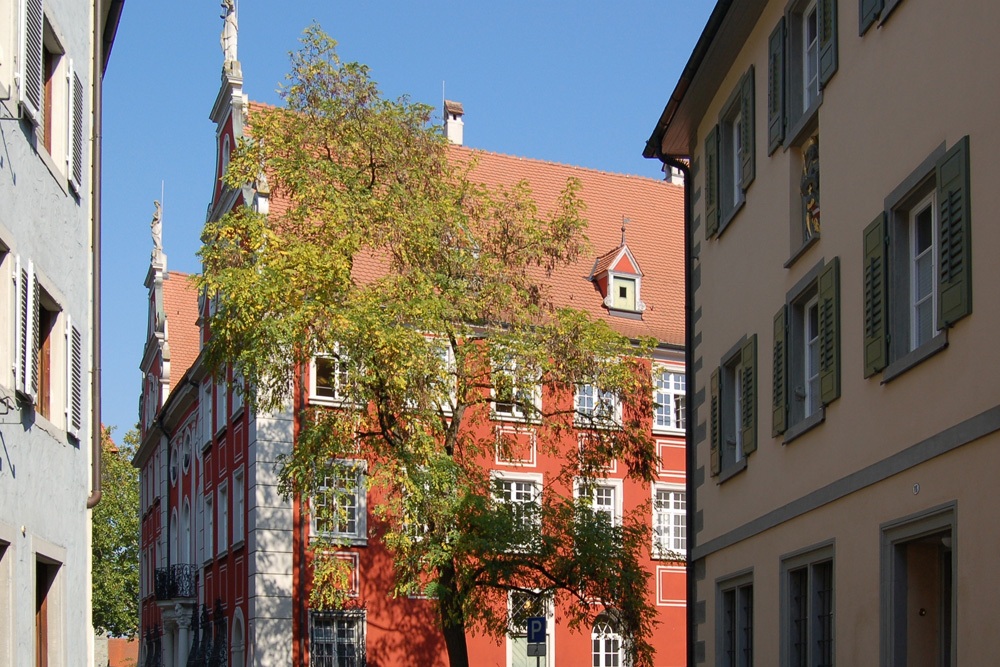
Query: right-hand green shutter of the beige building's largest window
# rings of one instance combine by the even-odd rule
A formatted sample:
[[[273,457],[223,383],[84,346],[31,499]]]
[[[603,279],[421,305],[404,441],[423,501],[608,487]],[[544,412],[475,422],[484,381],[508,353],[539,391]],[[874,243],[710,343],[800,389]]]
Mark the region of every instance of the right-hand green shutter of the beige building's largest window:
[[[969,206],[969,137],[963,137],[937,164],[940,211],[938,328],[972,312],[972,226]]]

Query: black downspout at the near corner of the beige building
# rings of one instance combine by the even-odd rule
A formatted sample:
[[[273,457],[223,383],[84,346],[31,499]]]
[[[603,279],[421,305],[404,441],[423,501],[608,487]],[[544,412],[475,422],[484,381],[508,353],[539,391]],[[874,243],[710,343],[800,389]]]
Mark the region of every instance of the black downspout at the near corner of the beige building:
[[[694,578],[694,561],[691,560],[691,554],[694,552],[695,539],[698,534],[694,523],[697,498],[695,497],[694,484],[696,461],[694,456],[693,419],[694,284],[691,281],[693,273],[691,264],[694,252],[694,239],[691,231],[691,193],[693,191],[694,184],[691,181],[691,168],[686,163],[673,157],[664,156],[660,152],[660,147],[658,145],[651,146],[650,144],[647,144],[647,151],[649,151],[651,147],[653,148],[653,157],[656,157],[667,167],[676,167],[677,169],[680,169],[681,173],[684,174],[684,386],[687,387],[688,396],[690,397],[690,400],[684,401],[684,493],[687,497],[686,525],[689,526],[687,535],[687,566],[685,577],[687,604],[685,605],[685,611],[687,613],[687,665],[688,667],[694,667],[694,646],[695,640],[697,639],[694,612],[697,589],[695,587]]]

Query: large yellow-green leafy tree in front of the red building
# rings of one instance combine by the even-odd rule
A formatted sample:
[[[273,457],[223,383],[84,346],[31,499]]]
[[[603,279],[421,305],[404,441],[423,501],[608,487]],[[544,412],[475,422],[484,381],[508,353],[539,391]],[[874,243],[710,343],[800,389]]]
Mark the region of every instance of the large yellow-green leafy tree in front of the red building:
[[[251,114],[252,139],[225,177],[234,188],[266,178],[282,206],[270,216],[239,208],[202,237],[200,288],[221,295],[209,365],[242,373],[258,410],[298,397],[282,488],[317,521],[346,519],[349,490],[329,482],[350,477],[344,459],[368,462],[397,590],[436,599],[453,666],[468,664],[467,631],[510,630],[511,591],[569,601],[574,627],[613,610],[633,664],[652,664],[646,514],[611,525],[574,494],[575,479],[599,479],[611,459],[644,482],[655,471],[652,341],[629,341],[549,296],[551,271],[587,247],[579,184],[567,182],[545,214],[527,183],[478,184],[475,161],[449,162],[429,107],[385,99],[317,26],[302,41],[285,107]],[[295,393],[319,353],[339,409],[310,408]],[[599,388],[598,407],[617,403],[620,414],[576,412],[578,385]],[[540,453],[560,461],[540,502],[504,502],[490,477],[495,397],[516,405]],[[593,427],[583,457],[581,419]],[[320,494],[329,502],[310,508]],[[341,605],[340,561],[313,546],[310,603]]]

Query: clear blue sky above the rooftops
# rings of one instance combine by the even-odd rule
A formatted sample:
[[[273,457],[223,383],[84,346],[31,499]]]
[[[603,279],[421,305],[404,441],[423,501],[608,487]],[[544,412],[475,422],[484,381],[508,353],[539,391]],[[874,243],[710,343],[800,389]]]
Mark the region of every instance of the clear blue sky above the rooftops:
[[[465,107],[465,144],[658,178],[642,158],[715,0],[238,1],[251,100],[278,84],[314,20],[383,93]],[[168,269],[197,272],[212,190],[222,20],[213,0],[127,2],[104,80],[103,420],[137,421],[153,200]]]

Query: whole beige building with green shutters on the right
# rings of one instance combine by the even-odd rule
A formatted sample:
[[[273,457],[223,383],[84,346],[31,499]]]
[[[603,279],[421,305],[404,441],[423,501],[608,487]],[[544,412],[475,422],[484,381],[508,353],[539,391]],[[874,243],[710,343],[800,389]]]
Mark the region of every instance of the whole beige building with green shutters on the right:
[[[995,664],[1000,2],[720,0],[690,167],[691,665]]]

